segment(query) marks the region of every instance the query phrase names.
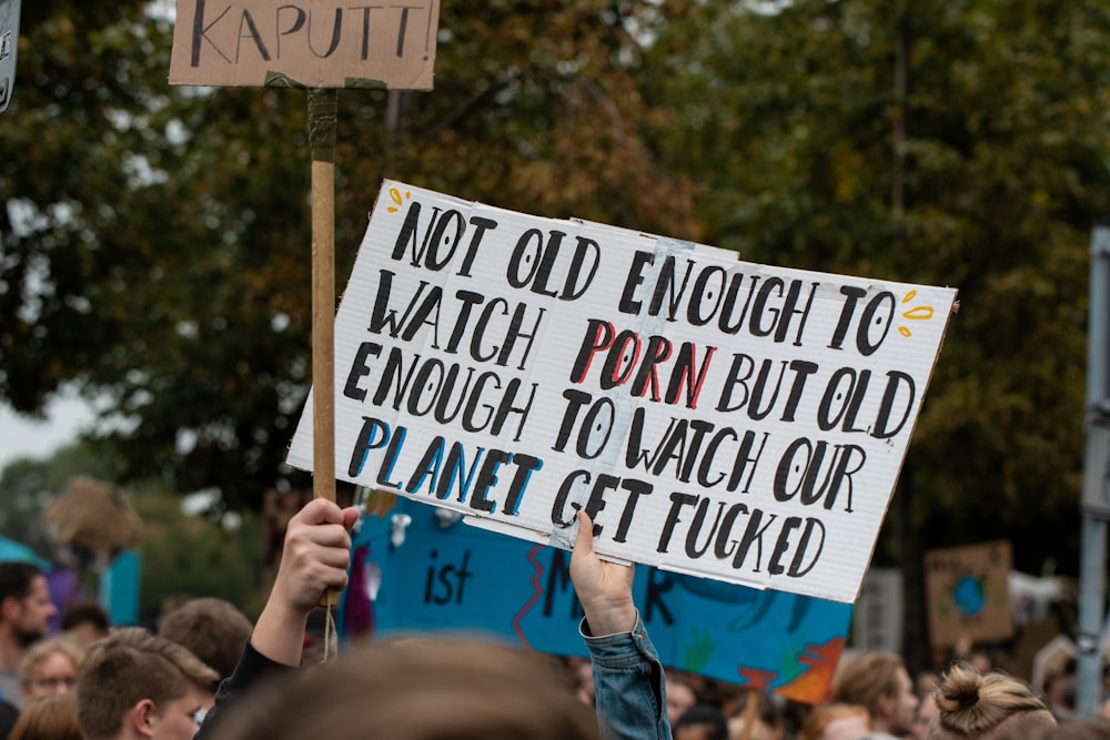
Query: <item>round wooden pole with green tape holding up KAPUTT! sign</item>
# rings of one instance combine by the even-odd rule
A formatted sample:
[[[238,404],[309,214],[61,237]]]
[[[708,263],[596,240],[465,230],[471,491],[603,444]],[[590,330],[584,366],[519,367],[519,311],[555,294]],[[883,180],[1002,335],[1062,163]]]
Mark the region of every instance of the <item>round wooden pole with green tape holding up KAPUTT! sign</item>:
[[[309,90],[312,145],[312,496],[335,500],[335,119],[339,93]],[[339,606],[330,589],[320,606]],[[331,614],[329,611],[329,614]]]

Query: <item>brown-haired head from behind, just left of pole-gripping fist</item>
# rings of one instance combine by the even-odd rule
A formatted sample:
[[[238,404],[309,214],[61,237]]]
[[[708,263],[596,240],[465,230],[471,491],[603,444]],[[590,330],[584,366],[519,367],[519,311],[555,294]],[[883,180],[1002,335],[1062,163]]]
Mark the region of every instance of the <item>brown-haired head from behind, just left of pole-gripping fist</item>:
[[[251,620],[233,604],[199,598],[185,601],[162,617],[158,635],[184,646],[224,679],[235,670],[252,629]]]

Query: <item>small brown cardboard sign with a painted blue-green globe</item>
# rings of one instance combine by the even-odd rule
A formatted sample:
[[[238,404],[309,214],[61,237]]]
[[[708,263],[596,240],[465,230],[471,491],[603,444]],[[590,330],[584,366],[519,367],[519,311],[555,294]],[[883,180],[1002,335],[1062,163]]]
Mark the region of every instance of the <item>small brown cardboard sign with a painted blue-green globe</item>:
[[[960,639],[1005,640],[1013,636],[1010,612],[1010,543],[999,540],[925,554],[929,640],[934,647]]]

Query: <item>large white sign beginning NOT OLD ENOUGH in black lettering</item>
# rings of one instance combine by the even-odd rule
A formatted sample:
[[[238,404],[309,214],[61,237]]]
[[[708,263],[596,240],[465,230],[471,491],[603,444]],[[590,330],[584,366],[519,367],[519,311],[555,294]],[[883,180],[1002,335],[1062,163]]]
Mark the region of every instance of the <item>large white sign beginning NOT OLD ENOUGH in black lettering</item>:
[[[851,601],[955,298],[386,181],[335,320],[336,475]]]

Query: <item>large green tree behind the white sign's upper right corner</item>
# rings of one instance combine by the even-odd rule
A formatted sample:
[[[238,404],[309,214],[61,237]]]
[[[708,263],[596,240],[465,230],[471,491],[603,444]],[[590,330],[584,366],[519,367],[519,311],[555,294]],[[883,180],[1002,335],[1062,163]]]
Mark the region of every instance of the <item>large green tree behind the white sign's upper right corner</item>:
[[[667,119],[652,141],[702,186],[710,243],[959,288],[896,498],[905,521],[880,558],[901,531],[928,546],[1010,537],[1032,571],[1074,562],[1087,249],[1110,197],[1104,87],[1081,80],[1106,78],[1110,17],[1073,2],[905,8],[680,4],[644,72],[664,81],[649,107],[687,125]],[[1059,536],[1038,537],[1046,526]]]

